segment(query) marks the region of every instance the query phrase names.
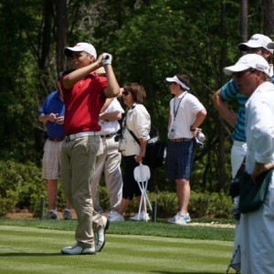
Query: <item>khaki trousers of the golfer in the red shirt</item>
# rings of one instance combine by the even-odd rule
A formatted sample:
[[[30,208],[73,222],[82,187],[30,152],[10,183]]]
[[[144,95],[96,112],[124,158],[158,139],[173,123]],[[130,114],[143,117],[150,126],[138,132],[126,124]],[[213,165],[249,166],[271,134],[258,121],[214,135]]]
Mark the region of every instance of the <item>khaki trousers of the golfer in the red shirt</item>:
[[[100,136],[88,136],[63,142],[61,150],[61,183],[76,211],[75,239],[81,248],[94,247],[93,232],[103,225],[91,200],[91,180],[99,147]]]

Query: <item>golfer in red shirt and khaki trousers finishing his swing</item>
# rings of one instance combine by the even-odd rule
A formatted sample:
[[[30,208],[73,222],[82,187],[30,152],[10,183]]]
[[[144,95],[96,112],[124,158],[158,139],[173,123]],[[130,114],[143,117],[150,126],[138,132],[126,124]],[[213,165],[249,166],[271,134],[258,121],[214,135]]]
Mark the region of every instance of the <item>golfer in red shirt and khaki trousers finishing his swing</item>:
[[[104,247],[105,230],[109,226],[105,216],[94,212],[90,194],[100,150],[99,115],[105,100],[119,95],[120,87],[111,67],[110,54],[101,54],[97,59],[97,52],[89,43],[65,47],[64,54],[72,58],[75,70],[61,79],[66,108],[61,182],[65,195],[76,211],[78,226],[76,244],[63,248],[61,253],[92,255]],[[93,73],[102,66],[106,77]]]

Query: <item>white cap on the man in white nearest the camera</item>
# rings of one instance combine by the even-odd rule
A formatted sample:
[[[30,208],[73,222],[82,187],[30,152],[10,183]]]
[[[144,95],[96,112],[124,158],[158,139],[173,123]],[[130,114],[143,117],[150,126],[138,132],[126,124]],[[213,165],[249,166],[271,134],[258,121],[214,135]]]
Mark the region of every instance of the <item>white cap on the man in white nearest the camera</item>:
[[[248,68],[254,68],[256,70],[263,71],[269,77],[271,77],[268,61],[262,56],[255,53],[246,54],[243,57],[239,58],[234,66],[224,68],[224,73],[230,76],[234,72],[244,71]]]

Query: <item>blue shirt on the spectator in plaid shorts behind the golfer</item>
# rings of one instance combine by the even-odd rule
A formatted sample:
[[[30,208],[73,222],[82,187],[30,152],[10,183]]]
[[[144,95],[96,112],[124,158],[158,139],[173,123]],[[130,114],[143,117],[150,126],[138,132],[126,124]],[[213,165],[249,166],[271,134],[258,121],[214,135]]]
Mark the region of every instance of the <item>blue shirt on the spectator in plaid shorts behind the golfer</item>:
[[[51,92],[39,109],[39,116],[50,113],[58,113],[58,116],[65,115],[65,105],[60,99],[60,93],[58,90]],[[64,125],[58,124],[57,122],[47,121],[46,128],[48,138],[63,138],[65,135]]]

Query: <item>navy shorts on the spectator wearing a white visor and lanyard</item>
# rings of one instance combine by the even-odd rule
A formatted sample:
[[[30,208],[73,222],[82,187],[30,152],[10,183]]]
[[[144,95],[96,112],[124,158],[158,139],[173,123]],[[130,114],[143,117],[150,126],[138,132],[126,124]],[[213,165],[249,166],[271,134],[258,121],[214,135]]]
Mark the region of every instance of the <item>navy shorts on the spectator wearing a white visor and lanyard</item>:
[[[167,177],[189,180],[194,163],[196,144],[193,140],[169,142],[167,147]]]

